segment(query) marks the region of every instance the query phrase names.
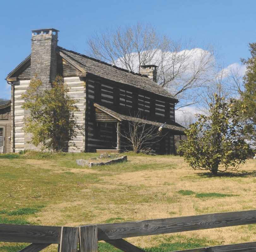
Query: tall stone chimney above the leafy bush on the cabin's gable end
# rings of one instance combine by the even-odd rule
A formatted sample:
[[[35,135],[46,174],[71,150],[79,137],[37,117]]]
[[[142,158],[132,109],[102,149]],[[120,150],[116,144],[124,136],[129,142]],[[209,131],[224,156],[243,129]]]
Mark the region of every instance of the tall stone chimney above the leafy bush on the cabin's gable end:
[[[58,30],[53,28],[32,30],[31,78],[41,79],[45,88],[51,87],[57,74]]]

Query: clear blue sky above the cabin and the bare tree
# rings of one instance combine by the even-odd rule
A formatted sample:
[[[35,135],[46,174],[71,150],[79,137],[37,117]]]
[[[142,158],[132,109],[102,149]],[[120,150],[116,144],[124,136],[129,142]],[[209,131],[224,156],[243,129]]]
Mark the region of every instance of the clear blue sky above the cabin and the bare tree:
[[[256,1],[86,0],[4,1],[0,10],[0,98],[10,99],[5,78],[30,54],[31,30],[59,30],[58,45],[85,54],[86,41],[99,29],[151,23],[173,39],[212,43],[224,66],[250,57],[256,42]]]

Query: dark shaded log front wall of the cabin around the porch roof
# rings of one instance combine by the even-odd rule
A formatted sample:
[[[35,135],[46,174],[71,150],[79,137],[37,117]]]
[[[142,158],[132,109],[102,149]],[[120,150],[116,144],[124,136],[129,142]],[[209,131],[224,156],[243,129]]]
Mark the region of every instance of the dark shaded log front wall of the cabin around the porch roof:
[[[95,149],[116,148],[116,122],[93,106],[98,103],[115,112],[130,116],[139,116],[161,123],[174,120],[174,103],[170,99],[150,92],[131,88],[124,84],[111,83],[100,79],[90,78],[86,81],[88,92],[88,136],[87,152]],[[122,85],[122,86],[121,86]],[[97,121],[97,122],[96,122]],[[124,124],[122,122],[121,131]],[[174,135],[166,131],[161,142],[154,144],[154,148],[161,154],[174,153]],[[121,148],[125,148],[125,145]]]

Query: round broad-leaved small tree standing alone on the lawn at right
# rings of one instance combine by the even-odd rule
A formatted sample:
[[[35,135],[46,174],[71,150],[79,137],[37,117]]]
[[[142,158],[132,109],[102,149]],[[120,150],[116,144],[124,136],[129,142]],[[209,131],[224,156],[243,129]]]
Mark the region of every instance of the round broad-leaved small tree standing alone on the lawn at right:
[[[215,95],[209,116],[198,115],[198,121],[185,130],[187,140],[179,150],[193,169],[209,170],[212,175],[236,170],[249,154],[235,101],[225,102]]]

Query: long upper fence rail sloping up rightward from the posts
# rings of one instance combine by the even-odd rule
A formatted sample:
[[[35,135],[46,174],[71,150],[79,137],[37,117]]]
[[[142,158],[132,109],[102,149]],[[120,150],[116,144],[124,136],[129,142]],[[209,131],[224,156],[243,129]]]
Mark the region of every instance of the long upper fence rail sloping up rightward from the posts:
[[[256,223],[256,210],[98,224],[98,240],[184,232]]]

